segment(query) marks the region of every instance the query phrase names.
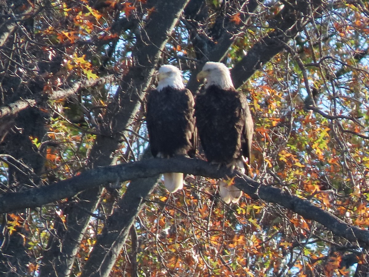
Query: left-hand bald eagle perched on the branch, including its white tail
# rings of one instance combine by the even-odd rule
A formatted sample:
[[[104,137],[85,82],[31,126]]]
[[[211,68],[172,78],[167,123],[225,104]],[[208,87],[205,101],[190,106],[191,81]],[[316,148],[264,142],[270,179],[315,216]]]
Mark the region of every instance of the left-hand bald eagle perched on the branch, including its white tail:
[[[173,65],[159,69],[158,87],[149,92],[146,123],[151,153],[169,158],[194,151],[194,100],[184,88],[182,74]],[[164,185],[169,192],[183,188],[183,173],[165,173]]]

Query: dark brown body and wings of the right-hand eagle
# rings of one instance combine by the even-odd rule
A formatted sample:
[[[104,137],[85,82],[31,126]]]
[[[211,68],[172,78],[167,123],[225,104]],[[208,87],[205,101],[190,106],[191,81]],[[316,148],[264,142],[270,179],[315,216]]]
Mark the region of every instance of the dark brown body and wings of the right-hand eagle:
[[[231,165],[241,155],[250,161],[253,121],[245,95],[211,85],[197,96],[195,117],[208,161]]]

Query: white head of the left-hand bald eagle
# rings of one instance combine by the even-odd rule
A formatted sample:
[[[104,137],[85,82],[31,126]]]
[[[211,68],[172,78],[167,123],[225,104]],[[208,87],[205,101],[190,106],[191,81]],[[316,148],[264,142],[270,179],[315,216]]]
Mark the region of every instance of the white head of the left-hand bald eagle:
[[[167,64],[159,68],[158,87],[156,89],[160,91],[167,86],[176,89],[184,89],[182,73],[174,65]]]

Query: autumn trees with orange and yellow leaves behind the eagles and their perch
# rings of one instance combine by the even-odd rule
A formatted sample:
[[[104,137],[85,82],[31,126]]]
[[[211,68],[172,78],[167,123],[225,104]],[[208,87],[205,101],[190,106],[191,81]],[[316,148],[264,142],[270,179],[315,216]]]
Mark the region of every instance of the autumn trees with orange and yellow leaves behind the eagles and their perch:
[[[367,230],[368,24],[365,1],[0,0],[1,194],[150,158],[145,93],[155,70],[178,66],[196,95],[196,73],[210,59],[234,68],[248,97],[254,180]],[[205,159],[200,146],[197,158]],[[227,205],[216,179],[188,174],[169,194],[161,177],[147,177],[2,211],[0,272],[369,272],[367,244],[338,236],[333,223],[247,194]],[[148,189],[136,205],[124,196],[137,182]],[[115,230],[119,212],[132,216]]]

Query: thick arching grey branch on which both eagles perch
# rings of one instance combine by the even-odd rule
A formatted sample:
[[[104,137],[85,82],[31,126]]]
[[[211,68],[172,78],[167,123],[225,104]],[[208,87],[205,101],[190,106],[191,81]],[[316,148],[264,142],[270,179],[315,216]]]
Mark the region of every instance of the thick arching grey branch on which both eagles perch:
[[[47,187],[4,194],[0,196],[0,213],[45,205],[59,199],[72,197],[80,191],[91,189],[107,182],[123,182],[131,179],[155,177],[160,173],[166,172],[184,172],[186,174],[210,178],[235,176],[229,169],[220,168],[218,170],[217,166],[211,165],[203,160],[185,157],[171,159],[153,158],[134,163],[99,167]],[[235,185],[253,199],[261,199],[266,202],[279,204],[284,208],[298,213],[305,219],[319,222],[335,235],[345,237],[351,242],[359,241],[369,243],[368,230],[351,226],[307,200],[290,195],[279,188],[262,185],[246,175],[236,176]]]

